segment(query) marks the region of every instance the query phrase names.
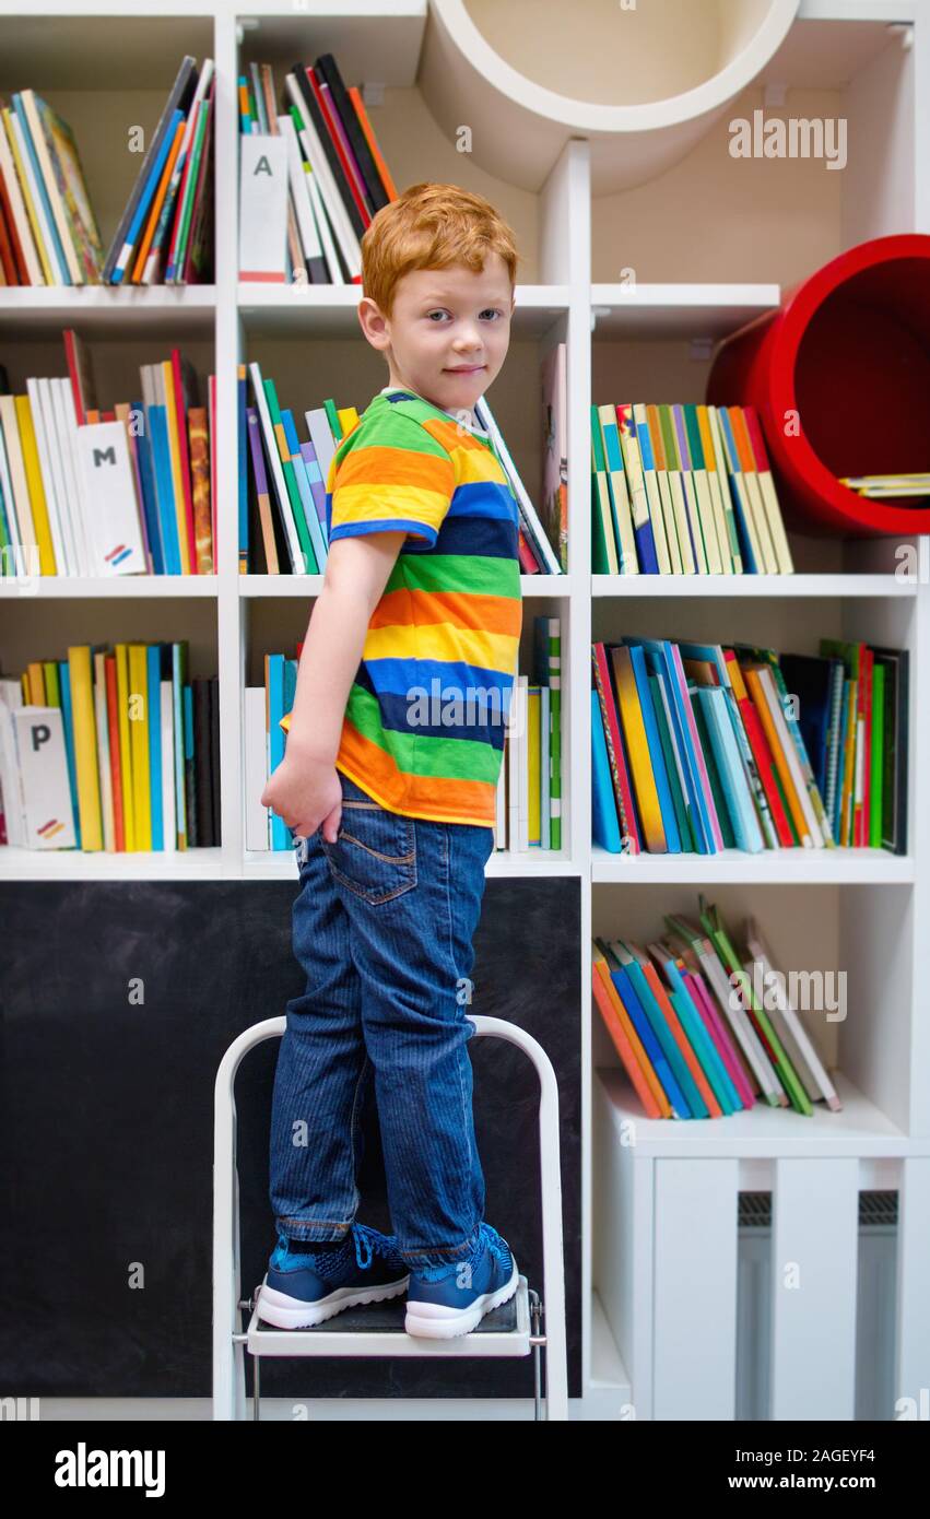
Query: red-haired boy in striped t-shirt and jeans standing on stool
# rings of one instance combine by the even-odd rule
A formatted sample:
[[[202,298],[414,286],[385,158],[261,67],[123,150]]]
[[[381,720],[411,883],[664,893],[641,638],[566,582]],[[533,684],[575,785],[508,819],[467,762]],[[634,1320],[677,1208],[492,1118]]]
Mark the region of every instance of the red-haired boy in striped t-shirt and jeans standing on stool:
[[[517,1291],[483,1221],[463,1006],[523,620],[517,503],[473,407],[508,352],[517,257],[456,185],[412,185],[362,240],[389,384],[330,468],[324,588],[261,796],[299,835],[307,971],[270,1126],[260,1312],[283,1328],[407,1290],[407,1334],[451,1338]],[[354,1221],[372,1074],[391,1236]]]

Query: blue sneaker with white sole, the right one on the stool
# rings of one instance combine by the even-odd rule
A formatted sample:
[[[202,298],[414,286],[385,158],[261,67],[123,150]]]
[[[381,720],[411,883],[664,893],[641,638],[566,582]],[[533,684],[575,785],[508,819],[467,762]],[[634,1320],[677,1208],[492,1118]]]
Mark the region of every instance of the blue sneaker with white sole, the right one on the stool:
[[[520,1271],[506,1240],[482,1223],[471,1261],[447,1267],[410,1267],[407,1334],[454,1340],[517,1291]]]

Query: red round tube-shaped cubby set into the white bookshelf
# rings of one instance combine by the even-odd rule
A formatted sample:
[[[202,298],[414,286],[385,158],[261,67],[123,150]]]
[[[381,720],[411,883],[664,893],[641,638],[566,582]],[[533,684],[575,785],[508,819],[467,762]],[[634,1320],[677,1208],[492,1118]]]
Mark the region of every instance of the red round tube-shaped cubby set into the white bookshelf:
[[[711,406],[755,406],[786,519],[819,535],[930,533],[925,497],[837,475],[930,471],[930,237],[848,249],[714,355]]]

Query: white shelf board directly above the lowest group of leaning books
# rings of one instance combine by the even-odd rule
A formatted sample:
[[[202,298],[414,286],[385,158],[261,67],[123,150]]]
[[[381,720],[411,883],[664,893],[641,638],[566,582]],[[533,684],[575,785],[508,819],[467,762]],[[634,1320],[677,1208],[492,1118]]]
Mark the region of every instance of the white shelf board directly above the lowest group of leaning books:
[[[635,886],[637,883],[720,884],[725,881],[769,886],[910,886],[916,880],[910,855],[887,849],[763,849],[745,854],[722,849],[716,855],[614,855],[591,846],[591,880]]]

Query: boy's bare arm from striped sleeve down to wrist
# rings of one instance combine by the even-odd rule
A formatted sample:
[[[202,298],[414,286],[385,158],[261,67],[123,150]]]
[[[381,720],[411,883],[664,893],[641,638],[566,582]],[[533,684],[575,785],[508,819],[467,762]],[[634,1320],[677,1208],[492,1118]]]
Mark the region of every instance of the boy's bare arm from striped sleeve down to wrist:
[[[406,536],[406,530],[365,533],[330,545],[322,591],[301,650],[287,755],[336,763],[371,614]]]

